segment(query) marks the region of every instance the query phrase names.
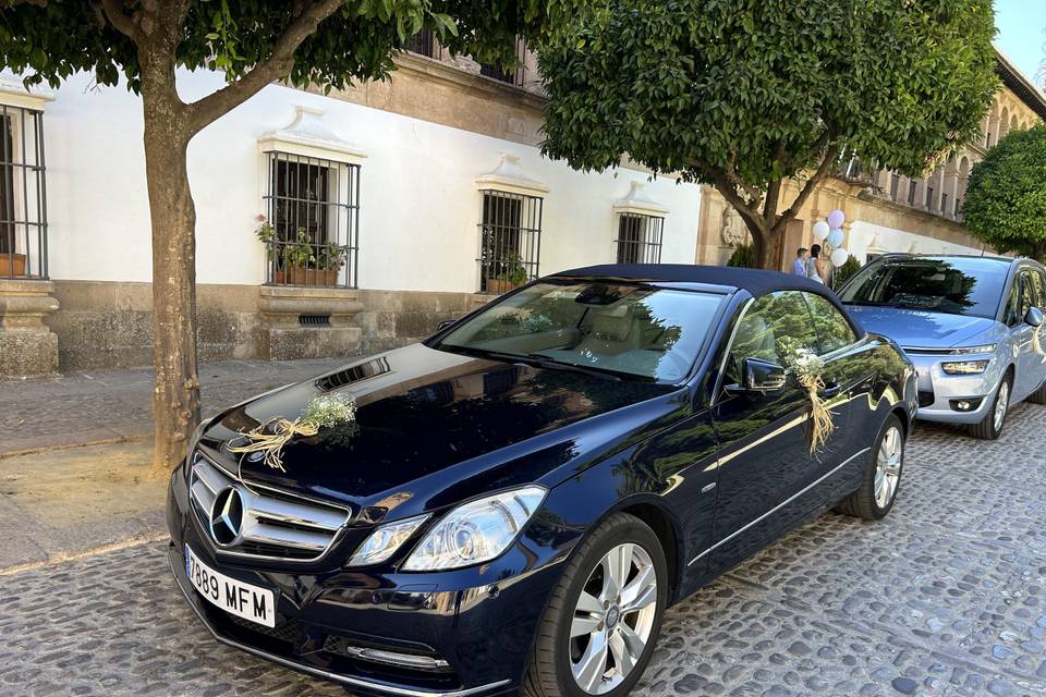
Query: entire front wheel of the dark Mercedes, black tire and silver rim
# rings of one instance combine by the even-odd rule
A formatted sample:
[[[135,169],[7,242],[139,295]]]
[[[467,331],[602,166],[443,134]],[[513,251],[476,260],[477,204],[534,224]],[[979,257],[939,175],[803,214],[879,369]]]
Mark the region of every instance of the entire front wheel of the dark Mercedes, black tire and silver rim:
[[[605,583],[608,577],[607,564],[623,567],[620,561],[625,558],[625,552],[622,549],[631,554],[623,589],[629,592],[631,588],[631,592],[638,592],[640,598],[632,603],[633,607],[647,602],[641,610],[625,610],[628,599],[620,592],[613,592],[616,585],[609,587],[608,595],[603,595],[608,590]],[[617,557],[611,558],[611,552]],[[608,562],[608,559],[611,561]],[[654,574],[653,592],[647,585],[640,583],[648,580],[649,573]],[[633,583],[636,585],[632,586]],[[530,667],[523,678],[523,694],[527,697],[627,695],[643,675],[654,653],[668,602],[668,584],[665,551],[654,530],[633,515],[610,515],[574,550],[549,595]],[[582,592],[586,595],[584,600]],[[601,602],[605,599],[613,604],[608,608]],[[580,634],[571,636],[576,632]],[[642,649],[632,650],[636,648],[634,638],[643,635],[646,640]],[[598,640],[600,636],[601,643]],[[600,659],[600,650],[595,647],[606,647],[603,652],[607,658]],[[622,663],[628,668],[623,674],[619,673],[618,656],[624,658]],[[585,661],[586,657],[594,660]],[[603,673],[598,672],[600,660]],[[629,663],[631,667],[628,667]],[[574,675],[575,667],[581,673],[580,678]],[[583,670],[585,667],[593,668],[586,672]],[[610,678],[604,680],[601,676],[607,674]],[[586,687],[582,686],[581,681],[585,681]]]

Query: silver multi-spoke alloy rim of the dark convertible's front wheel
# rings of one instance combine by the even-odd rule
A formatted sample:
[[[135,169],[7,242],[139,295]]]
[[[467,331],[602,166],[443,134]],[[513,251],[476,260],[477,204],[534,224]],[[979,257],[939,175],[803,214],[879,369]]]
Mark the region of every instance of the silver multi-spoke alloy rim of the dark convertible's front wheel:
[[[588,574],[570,624],[570,664],[577,686],[603,695],[643,656],[657,613],[657,570],[638,545],[618,545]]]

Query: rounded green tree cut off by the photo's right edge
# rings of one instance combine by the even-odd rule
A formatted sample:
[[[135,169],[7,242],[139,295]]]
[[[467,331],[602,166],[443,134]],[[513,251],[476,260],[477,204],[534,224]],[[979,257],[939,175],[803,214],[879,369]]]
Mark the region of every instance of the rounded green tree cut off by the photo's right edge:
[[[999,252],[1046,257],[1046,124],[1010,131],[973,166],[962,212]]]

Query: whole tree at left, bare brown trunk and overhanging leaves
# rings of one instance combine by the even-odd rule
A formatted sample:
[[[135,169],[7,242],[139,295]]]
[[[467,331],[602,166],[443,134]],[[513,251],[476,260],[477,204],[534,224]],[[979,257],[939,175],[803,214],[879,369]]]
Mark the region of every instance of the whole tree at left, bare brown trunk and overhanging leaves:
[[[423,28],[477,60],[510,65],[518,36],[540,35],[543,0],[0,0],[0,64],[29,86],[58,87],[78,71],[121,76],[142,95],[153,239],[156,389],[153,472],[177,466],[199,420],[196,362],[196,210],[188,142],[266,85],[342,88],[384,78]],[[222,72],[197,101],[175,69]]]

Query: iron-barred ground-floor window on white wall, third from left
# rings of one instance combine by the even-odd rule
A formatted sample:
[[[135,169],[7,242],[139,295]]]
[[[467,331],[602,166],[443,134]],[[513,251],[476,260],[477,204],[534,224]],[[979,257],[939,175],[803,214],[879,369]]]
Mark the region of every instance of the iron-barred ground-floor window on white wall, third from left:
[[[479,292],[504,293],[537,278],[540,196],[484,189],[479,222]]]

